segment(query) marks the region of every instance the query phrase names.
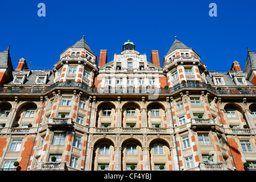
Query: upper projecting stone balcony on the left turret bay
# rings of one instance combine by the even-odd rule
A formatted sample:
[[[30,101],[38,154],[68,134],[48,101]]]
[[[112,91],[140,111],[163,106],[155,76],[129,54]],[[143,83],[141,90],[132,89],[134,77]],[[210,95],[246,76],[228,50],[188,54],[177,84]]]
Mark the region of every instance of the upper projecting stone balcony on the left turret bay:
[[[50,130],[68,129],[72,127],[72,118],[50,118],[47,123]]]

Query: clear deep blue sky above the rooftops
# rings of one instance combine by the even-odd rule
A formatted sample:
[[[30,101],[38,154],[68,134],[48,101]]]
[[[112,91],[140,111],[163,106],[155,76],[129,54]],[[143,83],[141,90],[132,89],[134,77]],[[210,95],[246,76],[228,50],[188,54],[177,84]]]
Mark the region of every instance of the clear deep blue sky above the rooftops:
[[[46,16],[39,17],[38,3],[45,3]],[[209,16],[210,3],[217,4],[217,17]],[[245,68],[246,47],[256,51],[256,2],[183,1],[1,1],[0,51],[11,45],[14,69],[24,57],[32,67],[53,68],[59,55],[85,35],[97,55],[107,49],[108,61],[122,52],[128,39],[140,53],[159,51],[163,56],[178,40],[193,48],[210,71],[228,71],[233,61]]]

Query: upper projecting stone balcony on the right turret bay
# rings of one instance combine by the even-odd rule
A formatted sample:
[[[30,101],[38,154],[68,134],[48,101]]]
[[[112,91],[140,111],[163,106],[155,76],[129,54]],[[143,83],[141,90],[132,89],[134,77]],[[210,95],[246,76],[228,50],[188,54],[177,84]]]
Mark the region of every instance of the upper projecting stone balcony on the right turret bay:
[[[216,122],[213,118],[199,119],[191,118],[191,127],[200,129],[213,129],[216,126]]]

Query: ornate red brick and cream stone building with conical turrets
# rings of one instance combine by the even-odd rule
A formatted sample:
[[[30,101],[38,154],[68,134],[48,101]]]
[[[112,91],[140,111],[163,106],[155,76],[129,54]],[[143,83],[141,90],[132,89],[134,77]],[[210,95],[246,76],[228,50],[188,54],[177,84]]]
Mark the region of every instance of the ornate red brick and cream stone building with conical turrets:
[[[256,54],[209,71],[175,37],[160,67],[125,42],[99,60],[85,37],[51,70],[0,52],[0,168],[23,171],[256,169]],[[245,168],[244,164],[249,164]]]

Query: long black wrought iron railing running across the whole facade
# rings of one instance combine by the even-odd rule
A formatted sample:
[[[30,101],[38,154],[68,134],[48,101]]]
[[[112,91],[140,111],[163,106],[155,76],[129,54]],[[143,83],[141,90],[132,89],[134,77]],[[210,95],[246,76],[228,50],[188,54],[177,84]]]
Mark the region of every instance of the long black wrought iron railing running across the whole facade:
[[[206,84],[205,82],[186,82],[177,84],[170,88],[155,88],[153,86],[141,86],[138,88],[134,88],[134,86],[127,86],[127,87],[111,87],[107,86],[106,88],[91,88],[90,86],[83,84],[82,82],[75,82],[75,81],[66,81],[66,82],[55,82],[53,85],[48,86],[47,88],[40,88],[40,87],[33,87],[33,88],[18,88],[18,87],[1,87],[0,93],[35,93],[35,94],[42,94],[49,92],[51,89],[62,87],[62,88],[81,88],[86,92],[91,94],[138,94],[138,93],[145,93],[145,94],[172,94],[177,92],[181,89],[207,89],[211,92],[215,93],[216,95],[256,95],[256,89],[215,89],[210,85]]]

